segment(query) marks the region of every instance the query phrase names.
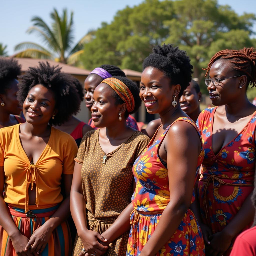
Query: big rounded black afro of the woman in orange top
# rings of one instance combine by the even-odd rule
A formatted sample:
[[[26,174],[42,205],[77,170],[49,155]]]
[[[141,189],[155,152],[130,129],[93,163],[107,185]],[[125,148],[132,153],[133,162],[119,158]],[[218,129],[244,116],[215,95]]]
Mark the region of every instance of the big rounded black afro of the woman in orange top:
[[[19,76],[18,101],[22,105],[28,92],[34,86],[41,84],[54,93],[58,110],[50,125],[61,125],[69,120],[70,116],[80,110],[80,97],[69,74],[61,72],[59,66],[50,66],[48,62],[39,62],[37,67],[29,67],[23,76]]]

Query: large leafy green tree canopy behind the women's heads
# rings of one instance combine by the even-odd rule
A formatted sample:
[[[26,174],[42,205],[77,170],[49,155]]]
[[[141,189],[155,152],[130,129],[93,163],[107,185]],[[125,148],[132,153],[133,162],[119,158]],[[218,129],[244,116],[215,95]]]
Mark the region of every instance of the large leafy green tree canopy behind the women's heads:
[[[145,0],[118,11],[110,24],[102,23],[81,58],[87,69],[108,63],[141,71],[155,45],[170,43],[187,51],[193,77],[202,84],[202,67],[217,51],[256,46],[255,20],[254,14],[238,15],[216,0]]]

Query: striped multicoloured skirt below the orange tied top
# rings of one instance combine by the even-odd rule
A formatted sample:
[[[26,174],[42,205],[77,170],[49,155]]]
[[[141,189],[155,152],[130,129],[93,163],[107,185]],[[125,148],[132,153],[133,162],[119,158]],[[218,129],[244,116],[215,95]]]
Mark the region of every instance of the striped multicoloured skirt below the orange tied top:
[[[36,215],[37,218],[26,217],[24,209],[9,207],[10,215],[19,231],[30,238],[33,232],[42,226],[58,209],[59,205],[39,210],[31,210],[31,213]],[[72,254],[72,242],[70,230],[67,221],[59,225],[51,234],[50,240],[46,245],[41,256],[63,255],[70,256]],[[0,256],[15,256],[17,255],[12,241],[8,234],[0,226]]]

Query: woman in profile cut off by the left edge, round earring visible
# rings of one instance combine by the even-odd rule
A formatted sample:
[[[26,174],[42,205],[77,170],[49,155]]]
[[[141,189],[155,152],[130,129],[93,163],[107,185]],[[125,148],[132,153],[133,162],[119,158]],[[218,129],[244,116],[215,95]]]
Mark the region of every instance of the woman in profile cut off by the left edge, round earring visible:
[[[20,68],[17,60],[0,58],[0,128],[25,122],[18,116],[22,110],[17,101]]]

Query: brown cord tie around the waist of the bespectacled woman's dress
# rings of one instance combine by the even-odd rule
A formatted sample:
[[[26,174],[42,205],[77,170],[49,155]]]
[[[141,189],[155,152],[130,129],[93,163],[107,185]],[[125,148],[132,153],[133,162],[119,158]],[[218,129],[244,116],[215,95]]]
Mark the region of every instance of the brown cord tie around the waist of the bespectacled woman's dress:
[[[241,187],[241,186],[251,187],[251,186],[254,185],[251,180],[246,180],[246,179],[243,179],[243,181],[249,182],[249,184],[227,183],[224,180],[222,180],[222,179],[228,179],[228,180],[233,181],[233,182],[237,181],[237,179],[232,179],[232,178],[229,178],[229,177],[220,177],[220,176],[216,176],[216,175],[207,175],[207,174],[203,174],[203,176],[208,176],[206,179],[201,179],[201,178],[199,179],[199,180],[205,182],[205,187],[204,187],[204,191],[203,191],[203,195],[204,195],[203,205],[204,205],[204,208],[205,208],[206,219],[208,219],[207,218],[208,208],[207,208],[207,204],[206,204],[206,192],[207,192],[207,188],[208,188],[210,182],[213,183],[213,186],[215,188],[219,188],[221,185],[238,186],[238,187]]]

